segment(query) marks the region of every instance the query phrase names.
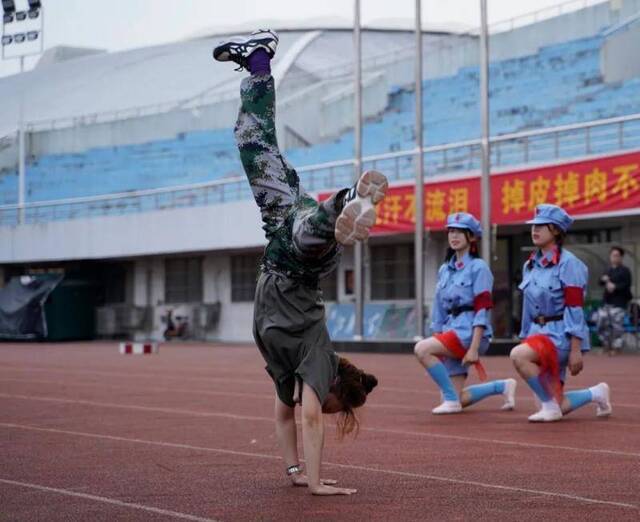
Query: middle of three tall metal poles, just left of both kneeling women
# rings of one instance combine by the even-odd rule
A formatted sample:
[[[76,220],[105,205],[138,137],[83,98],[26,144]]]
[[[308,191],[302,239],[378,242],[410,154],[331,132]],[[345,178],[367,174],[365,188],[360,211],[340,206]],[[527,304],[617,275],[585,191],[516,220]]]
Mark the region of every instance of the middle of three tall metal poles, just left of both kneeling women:
[[[416,339],[424,335],[424,163],[422,130],[422,0],[416,0],[416,229],[415,229],[415,292]]]

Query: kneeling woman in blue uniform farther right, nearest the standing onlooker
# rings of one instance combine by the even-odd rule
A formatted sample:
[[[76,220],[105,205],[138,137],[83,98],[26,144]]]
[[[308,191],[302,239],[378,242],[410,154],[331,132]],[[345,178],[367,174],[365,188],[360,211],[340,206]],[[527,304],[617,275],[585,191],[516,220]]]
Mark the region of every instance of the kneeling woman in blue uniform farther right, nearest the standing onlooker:
[[[567,367],[571,375],[582,371],[582,352],[589,350],[589,330],[582,306],[587,288],[586,265],[562,248],[573,219],[555,205],[538,205],[531,238],[537,249],[523,269],[520,289],[524,339],[511,351],[511,360],[540,400],[531,422],[560,420],[587,403],[595,402],[598,416],[611,414],[609,386],[600,383],[562,393]]]

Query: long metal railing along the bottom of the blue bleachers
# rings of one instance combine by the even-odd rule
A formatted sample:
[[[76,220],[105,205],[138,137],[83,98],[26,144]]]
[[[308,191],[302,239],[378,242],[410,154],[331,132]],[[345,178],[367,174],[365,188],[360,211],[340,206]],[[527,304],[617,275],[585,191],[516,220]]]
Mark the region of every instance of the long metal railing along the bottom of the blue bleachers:
[[[551,162],[594,154],[640,149],[640,114],[588,123],[564,125],[494,136],[491,142],[493,169]],[[480,140],[425,147],[426,176],[451,175],[480,168]],[[364,169],[383,171],[391,182],[413,180],[416,150],[378,154],[363,158]],[[297,169],[302,185],[310,192],[349,186],[352,159],[309,165]],[[146,211],[205,206],[251,198],[244,176],[207,183],[181,185],[119,194],[27,203],[24,223],[124,215]],[[19,205],[0,206],[0,226],[17,225]]]

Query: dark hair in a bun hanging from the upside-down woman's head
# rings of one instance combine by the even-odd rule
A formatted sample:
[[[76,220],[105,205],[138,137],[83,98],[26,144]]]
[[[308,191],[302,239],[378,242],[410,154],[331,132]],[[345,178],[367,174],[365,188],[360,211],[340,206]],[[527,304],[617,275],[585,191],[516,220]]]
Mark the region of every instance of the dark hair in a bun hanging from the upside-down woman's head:
[[[354,410],[367,401],[367,395],[378,385],[375,375],[356,368],[349,360],[340,357],[338,363],[338,377],[332,386],[332,391],[342,404],[342,411],[338,415],[338,438],[355,432],[357,436],[360,422]]]

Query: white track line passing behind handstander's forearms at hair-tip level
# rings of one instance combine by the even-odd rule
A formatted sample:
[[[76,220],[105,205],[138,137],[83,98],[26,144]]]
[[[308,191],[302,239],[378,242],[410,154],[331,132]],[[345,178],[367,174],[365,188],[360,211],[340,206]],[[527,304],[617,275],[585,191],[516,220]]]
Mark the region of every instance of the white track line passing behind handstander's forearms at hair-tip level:
[[[234,413],[219,413],[219,412],[205,412],[205,411],[194,411],[194,410],[182,410],[177,408],[161,408],[154,406],[137,406],[132,404],[116,404],[109,402],[95,402],[95,401],[86,401],[86,400],[78,400],[78,399],[63,399],[57,397],[36,397],[31,395],[10,395],[6,393],[0,393],[0,397],[8,398],[8,399],[19,399],[19,400],[31,400],[31,401],[43,401],[43,402],[54,402],[54,403],[62,403],[62,404],[81,404],[84,406],[97,406],[102,408],[117,408],[124,410],[138,410],[138,411],[153,411],[153,412],[161,412],[161,413],[171,413],[178,415],[192,415],[196,417],[218,417],[218,418],[227,418],[233,420],[240,421],[263,421],[273,423],[273,418],[271,417],[258,417],[251,415],[238,415]],[[299,424],[299,423],[298,423]],[[609,422],[607,422],[609,424]],[[335,425],[329,425],[335,426]],[[489,444],[501,444],[504,446],[517,446],[523,448],[540,448],[540,449],[548,449],[548,450],[562,450],[562,451],[573,451],[576,453],[588,453],[594,455],[615,455],[622,457],[635,457],[640,458],[640,453],[626,452],[626,451],[617,451],[617,450],[606,450],[606,449],[591,449],[591,448],[578,448],[574,446],[557,446],[552,444],[538,444],[538,443],[529,443],[529,442],[516,442],[511,440],[499,440],[499,439],[483,439],[478,437],[464,437],[461,435],[443,435],[440,433],[430,433],[430,432],[422,432],[422,431],[408,431],[408,430],[395,430],[395,429],[387,429],[387,428],[372,428],[372,427],[362,427],[360,431],[367,431],[372,433],[390,433],[394,435],[406,435],[413,437],[428,437],[434,439],[443,439],[443,440],[464,440],[470,442],[486,442]]]

